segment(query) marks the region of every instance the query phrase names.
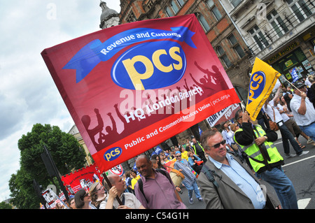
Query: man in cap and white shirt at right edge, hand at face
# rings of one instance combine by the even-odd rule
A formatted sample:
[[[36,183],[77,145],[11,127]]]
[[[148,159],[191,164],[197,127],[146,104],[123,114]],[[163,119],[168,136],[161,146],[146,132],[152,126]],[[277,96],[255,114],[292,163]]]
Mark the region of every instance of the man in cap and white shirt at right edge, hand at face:
[[[290,108],[292,110],[295,122],[309,136],[315,141],[315,109],[311,101],[307,99],[306,85],[303,83],[295,83],[294,96],[290,101]]]

